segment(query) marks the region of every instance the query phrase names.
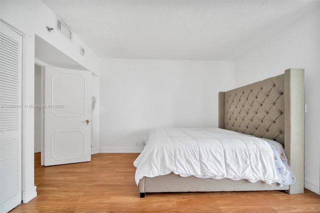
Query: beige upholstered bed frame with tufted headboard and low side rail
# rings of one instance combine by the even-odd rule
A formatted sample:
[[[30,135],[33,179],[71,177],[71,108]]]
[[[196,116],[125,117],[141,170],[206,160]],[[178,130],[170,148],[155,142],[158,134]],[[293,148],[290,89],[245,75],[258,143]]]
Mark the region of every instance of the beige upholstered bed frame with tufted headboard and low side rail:
[[[140,197],[146,192],[285,190],[304,189],[304,69],[287,69],[284,74],[225,92],[219,92],[219,128],[280,142],[295,175],[295,183],[272,186],[262,181],[180,177],[170,173],[143,177]]]

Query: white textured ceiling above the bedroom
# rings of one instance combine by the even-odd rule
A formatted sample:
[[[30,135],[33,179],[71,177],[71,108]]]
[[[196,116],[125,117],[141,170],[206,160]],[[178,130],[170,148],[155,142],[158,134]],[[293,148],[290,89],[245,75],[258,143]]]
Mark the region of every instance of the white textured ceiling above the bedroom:
[[[310,0],[42,0],[101,58],[234,60]]]

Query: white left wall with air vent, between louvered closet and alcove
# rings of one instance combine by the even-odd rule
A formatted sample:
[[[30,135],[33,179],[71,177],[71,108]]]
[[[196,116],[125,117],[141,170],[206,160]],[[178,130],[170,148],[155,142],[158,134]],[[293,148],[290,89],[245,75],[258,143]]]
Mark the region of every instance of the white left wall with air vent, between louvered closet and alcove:
[[[57,30],[48,32],[46,26],[55,27],[55,14],[42,2],[34,0],[1,0],[0,18],[22,34],[22,104],[34,103],[34,36],[55,46],[88,70],[99,74],[97,56],[75,35],[68,41]],[[85,48],[85,57],[79,46]],[[45,61],[44,61],[45,62]],[[34,186],[34,109],[22,108],[22,200],[28,202],[36,196]]]

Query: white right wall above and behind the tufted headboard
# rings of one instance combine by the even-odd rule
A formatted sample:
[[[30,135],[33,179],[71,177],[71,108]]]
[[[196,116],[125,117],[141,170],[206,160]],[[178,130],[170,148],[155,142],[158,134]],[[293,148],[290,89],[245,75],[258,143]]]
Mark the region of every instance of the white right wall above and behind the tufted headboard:
[[[305,69],[305,187],[320,189],[320,10],[317,8],[235,61],[236,86]],[[249,76],[249,77],[248,77]]]

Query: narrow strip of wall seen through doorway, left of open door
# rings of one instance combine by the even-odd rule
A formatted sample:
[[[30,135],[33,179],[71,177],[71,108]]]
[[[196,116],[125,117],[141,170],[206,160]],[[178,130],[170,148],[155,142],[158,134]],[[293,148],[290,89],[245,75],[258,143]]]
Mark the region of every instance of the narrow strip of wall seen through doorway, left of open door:
[[[34,64],[34,105],[41,104],[41,66]],[[41,151],[41,108],[34,108],[34,153]]]

